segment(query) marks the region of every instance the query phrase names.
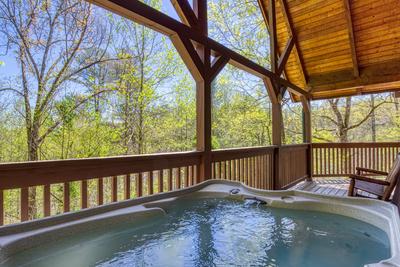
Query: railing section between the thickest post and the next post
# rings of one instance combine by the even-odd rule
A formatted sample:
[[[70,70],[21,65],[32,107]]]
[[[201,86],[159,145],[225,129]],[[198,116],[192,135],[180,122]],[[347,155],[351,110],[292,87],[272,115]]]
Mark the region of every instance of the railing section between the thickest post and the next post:
[[[269,146],[214,150],[211,178],[239,181],[259,189],[273,189],[276,149]]]

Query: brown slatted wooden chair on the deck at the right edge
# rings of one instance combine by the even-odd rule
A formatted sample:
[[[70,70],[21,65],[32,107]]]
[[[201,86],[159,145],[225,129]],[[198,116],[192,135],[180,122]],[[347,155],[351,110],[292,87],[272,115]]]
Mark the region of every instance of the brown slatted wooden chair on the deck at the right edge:
[[[388,201],[393,189],[396,187],[397,180],[400,179],[400,154],[397,155],[389,173],[360,167],[357,167],[356,170],[357,174],[352,174],[349,177],[351,179],[348,192],[349,196],[360,196],[357,191],[361,190],[377,196],[378,199]],[[364,174],[366,176],[362,176],[362,173],[367,174]],[[384,175],[386,179],[380,180],[367,177],[371,174]]]

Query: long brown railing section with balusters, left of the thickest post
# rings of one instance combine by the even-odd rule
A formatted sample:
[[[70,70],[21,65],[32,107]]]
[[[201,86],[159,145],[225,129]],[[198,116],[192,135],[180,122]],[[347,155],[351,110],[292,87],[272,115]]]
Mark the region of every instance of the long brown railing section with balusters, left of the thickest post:
[[[74,209],[84,209],[194,185],[200,160],[201,152],[185,152],[1,164],[0,224],[68,212],[77,199]],[[80,192],[72,198],[71,184],[76,182]],[[89,185],[94,190],[88,190]],[[60,189],[61,197],[54,192]],[[18,203],[12,208],[18,218],[4,221],[5,193],[15,190]]]

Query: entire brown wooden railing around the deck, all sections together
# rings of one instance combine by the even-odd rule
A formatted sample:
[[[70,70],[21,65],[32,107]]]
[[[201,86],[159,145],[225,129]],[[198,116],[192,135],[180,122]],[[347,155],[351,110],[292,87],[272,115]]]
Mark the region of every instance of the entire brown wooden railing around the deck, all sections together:
[[[398,142],[214,150],[211,178],[239,181],[259,189],[286,189],[311,174],[345,176],[355,173],[357,166],[388,171],[399,152]],[[202,152],[183,152],[0,164],[0,223],[191,186],[199,181],[202,156]],[[32,188],[37,189],[33,202]],[[7,202],[10,192],[16,199],[11,205]],[[4,217],[9,206],[17,210],[13,220]]]

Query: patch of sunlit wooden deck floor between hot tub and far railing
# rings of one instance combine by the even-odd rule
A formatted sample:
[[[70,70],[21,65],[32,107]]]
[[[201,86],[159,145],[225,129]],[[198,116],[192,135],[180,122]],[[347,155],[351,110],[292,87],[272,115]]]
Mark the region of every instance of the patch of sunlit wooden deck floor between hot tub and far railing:
[[[318,194],[346,196],[349,188],[347,178],[313,178],[312,181],[301,182],[291,189],[309,191]],[[367,197],[374,197],[365,192],[360,192]]]

